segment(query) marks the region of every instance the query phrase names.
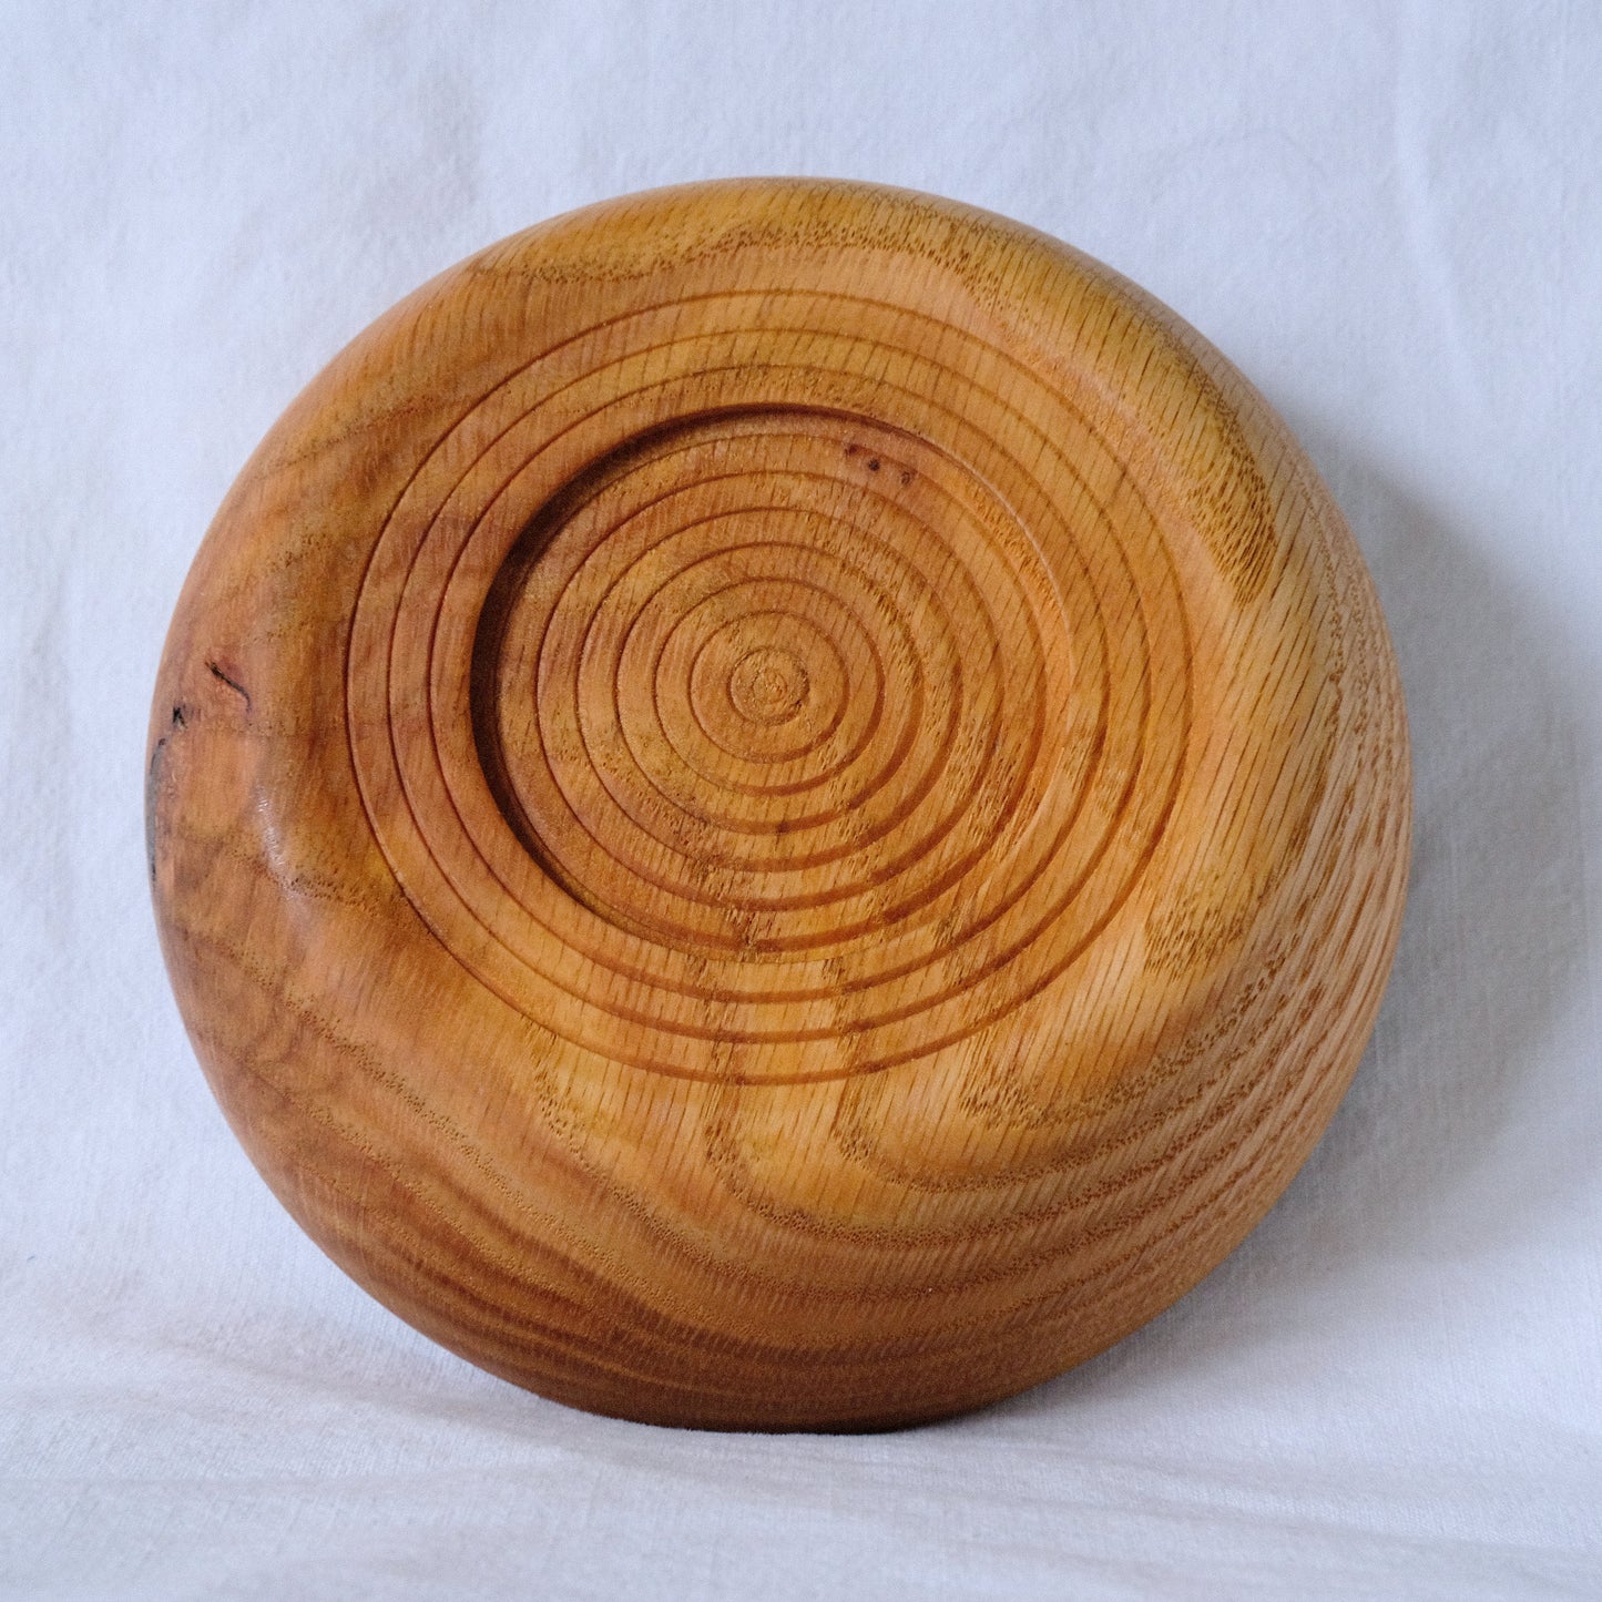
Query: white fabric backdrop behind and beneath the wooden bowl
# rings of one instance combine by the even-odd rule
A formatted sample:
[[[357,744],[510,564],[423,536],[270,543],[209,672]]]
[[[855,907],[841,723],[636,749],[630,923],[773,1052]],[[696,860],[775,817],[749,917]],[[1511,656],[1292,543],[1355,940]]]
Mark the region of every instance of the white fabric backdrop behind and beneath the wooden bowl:
[[[1602,10],[0,0],[0,1592],[1602,1596]],[[1022,218],[1282,409],[1418,763],[1378,1036],[1200,1290],[934,1429],[593,1419],[284,1216],[168,996],[146,705],[213,508],[450,261],[727,173]]]

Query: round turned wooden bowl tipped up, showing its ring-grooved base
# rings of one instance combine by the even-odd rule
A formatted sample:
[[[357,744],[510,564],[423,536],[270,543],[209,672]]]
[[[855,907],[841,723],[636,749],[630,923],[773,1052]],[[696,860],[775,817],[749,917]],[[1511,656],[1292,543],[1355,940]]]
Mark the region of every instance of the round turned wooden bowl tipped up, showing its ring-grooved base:
[[[173,618],[155,910],[356,1280],[602,1413],[879,1427],[1218,1264],[1375,1022],[1373,588],[1264,400],[1001,218],[636,195],[290,407]]]

